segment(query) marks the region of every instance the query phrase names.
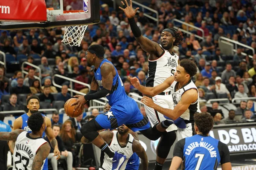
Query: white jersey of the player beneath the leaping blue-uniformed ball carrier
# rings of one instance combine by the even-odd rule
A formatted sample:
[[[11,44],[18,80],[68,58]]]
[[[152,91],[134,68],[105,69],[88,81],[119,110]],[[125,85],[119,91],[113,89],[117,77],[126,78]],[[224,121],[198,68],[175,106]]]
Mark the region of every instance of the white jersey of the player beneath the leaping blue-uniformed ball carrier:
[[[122,147],[120,146],[118,140],[117,140],[117,130],[112,131],[113,132],[113,139],[111,141],[111,144],[109,145],[111,149],[114,151],[121,153],[126,156],[125,162],[122,164],[122,167],[119,170],[125,170],[126,164],[129,160],[129,158],[132,156],[133,151],[132,151],[132,142],[134,140],[134,137],[129,134],[128,139],[127,139],[127,144]],[[100,163],[101,163],[101,168],[103,170],[111,170],[112,169],[112,163],[108,160],[108,155],[104,152],[102,152],[101,157],[100,157]]]

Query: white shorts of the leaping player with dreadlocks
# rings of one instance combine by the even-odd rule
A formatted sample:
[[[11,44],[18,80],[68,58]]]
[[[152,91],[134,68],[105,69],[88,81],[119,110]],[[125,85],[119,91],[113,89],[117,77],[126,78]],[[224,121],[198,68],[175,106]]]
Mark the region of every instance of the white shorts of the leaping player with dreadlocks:
[[[167,95],[156,95],[156,96],[152,97],[152,99],[153,99],[155,104],[161,106],[162,108],[174,109],[172,94],[170,94],[170,95],[168,95],[168,94]],[[162,113],[159,113],[159,112],[155,111],[153,108],[150,108],[146,105],[144,105],[144,107],[145,107],[145,112],[148,116],[149,122],[150,122],[152,127],[154,125],[156,125],[157,123],[166,120],[166,118],[163,116]],[[166,129],[167,132],[171,132],[173,130],[177,130],[177,127],[174,124],[170,125]]]

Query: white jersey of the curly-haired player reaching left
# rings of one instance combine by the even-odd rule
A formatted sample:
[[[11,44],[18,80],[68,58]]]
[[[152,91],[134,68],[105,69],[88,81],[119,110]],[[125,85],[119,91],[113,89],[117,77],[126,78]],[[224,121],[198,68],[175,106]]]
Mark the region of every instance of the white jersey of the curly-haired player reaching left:
[[[174,107],[180,102],[181,96],[188,91],[189,89],[196,89],[198,91],[198,88],[195,86],[194,82],[190,79],[189,82],[184,85],[179,90],[176,90],[178,88],[178,82],[173,81],[171,85],[171,93],[172,93],[172,99],[174,103]],[[198,99],[199,99],[199,92],[198,92]],[[191,103],[189,105],[189,108],[180,116],[184,120],[194,120],[193,116],[195,112],[201,113],[198,99],[196,102]]]

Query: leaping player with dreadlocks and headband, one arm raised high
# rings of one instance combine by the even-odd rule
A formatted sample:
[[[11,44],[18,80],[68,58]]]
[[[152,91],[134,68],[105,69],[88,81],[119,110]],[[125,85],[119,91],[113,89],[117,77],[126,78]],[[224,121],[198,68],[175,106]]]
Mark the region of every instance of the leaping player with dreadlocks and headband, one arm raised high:
[[[146,51],[148,56],[148,78],[146,79],[146,87],[154,87],[163,83],[168,77],[173,76],[176,67],[179,63],[179,56],[172,51],[174,46],[178,46],[183,41],[183,34],[174,28],[166,28],[162,31],[160,37],[160,44],[149,40],[147,37],[143,37],[140,28],[137,26],[134,16],[139,8],[135,10],[132,8],[132,1],[130,0],[130,6],[127,1],[122,2],[125,16],[131,26],[131,31],[134,37],[139,42],[141,48]],[[163,108],[174,109],[171,87],[167,88],[160,94],[152,97],[154,103],[160,105]],[[160,142],[157,146],[157,160],[154,170],[162,170],[163,163],[169,154],[169,150],[172,144],[175,142],[176,130],[175,125],[167,121],[162,113],[157,112],[153,108],[145,105],[146,114],[151,122],[151,126],[164,122],[161,125],[163,128],[167,128],[161,136]],[[177,125],[177,124],[176,124]],[[179,125],[177,125],[179,126]]]

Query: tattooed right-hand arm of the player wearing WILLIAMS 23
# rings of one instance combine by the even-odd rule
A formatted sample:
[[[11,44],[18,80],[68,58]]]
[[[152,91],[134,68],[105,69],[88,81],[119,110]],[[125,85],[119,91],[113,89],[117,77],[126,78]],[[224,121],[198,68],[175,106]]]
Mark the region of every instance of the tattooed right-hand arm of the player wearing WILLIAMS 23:
[[[44,159],[47,159],[47,156],[49,155],[50,150],[51,150],[51,147],[48,142],[46,142],[41,147],[39,147],[35,155],[34,161],[32,163],[32,170],[41,170]]]

